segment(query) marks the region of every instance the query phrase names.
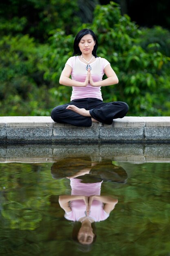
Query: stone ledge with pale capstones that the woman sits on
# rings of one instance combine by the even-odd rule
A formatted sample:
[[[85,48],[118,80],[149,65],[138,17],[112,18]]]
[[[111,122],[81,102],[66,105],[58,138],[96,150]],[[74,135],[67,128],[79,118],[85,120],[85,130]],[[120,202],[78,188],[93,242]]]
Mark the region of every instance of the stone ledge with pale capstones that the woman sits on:
[[[51,117],[0,117],[0,143],[170,143],[170,117],[124,117],[76,127]]]

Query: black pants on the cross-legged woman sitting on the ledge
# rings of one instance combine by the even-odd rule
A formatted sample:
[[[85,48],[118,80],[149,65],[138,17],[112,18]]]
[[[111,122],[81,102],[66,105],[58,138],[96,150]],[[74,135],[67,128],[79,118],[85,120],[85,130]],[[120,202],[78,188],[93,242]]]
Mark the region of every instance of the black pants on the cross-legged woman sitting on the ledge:
[[[68,105],[90,110],[91,117],[104,124],[112,124],[113,119],[122,118],[128,112],[128,105],[122,101],[104,103],[96,98],[75,99],[68,104],[55,107],[51,112],[53,121],[74,126],[91,126],[91,117],[83,117],[72,110],[66,109]]]

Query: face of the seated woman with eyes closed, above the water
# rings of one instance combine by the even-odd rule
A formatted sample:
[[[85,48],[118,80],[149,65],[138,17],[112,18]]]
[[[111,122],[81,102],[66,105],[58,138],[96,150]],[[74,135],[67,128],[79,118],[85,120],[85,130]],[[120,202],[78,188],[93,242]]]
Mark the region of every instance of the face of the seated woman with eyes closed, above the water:
[[[78,46],[82,54],[92,54],[93,48],[95,46],[93,36],[91,34],[83,36],[79,41]]]

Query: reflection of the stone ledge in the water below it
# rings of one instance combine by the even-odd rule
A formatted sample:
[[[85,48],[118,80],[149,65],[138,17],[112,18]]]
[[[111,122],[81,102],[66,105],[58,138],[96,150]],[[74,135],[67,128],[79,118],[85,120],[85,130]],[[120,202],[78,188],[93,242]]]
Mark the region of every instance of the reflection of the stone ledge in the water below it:
[[[92,161],[112,159],[116,162],[169,162],[169,144],[67,144],[0,145],[0,163],[57,162],[63,158],[90,157]]]

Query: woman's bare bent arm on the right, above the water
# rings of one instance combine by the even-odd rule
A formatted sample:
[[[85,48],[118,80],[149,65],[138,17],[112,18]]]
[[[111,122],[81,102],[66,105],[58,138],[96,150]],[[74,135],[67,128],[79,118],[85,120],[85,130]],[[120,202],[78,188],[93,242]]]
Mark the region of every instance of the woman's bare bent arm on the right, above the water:
[[[107,76],[106,79],[104,79],[102,81],[98,81],[98,82],[93,82],[91,72],[89,72],[90,85],[92,85],[92,86],[108,86],[108,85],[114,85],[114,84],[119,83],[119,80],[117,78],[115,71],[112,69],[112,67],[109,64],[104,68],[104,73]]]

